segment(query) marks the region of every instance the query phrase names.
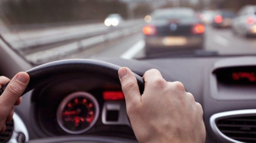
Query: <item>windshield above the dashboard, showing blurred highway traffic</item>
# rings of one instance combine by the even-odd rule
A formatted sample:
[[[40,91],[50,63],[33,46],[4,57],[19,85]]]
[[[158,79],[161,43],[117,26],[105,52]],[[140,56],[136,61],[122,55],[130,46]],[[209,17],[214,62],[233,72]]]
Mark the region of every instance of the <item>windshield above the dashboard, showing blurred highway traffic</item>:
[[[0,34],[34,64],[254,55],[255,7],[254,0],[1,0]]]

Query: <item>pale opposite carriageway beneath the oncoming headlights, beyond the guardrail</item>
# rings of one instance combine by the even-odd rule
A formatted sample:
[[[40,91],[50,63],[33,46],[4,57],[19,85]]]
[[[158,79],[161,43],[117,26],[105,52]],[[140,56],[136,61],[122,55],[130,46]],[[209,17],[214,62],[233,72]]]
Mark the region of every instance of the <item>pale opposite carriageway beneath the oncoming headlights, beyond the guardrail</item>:
[[[142,20],[124,21],[113,29],[106,27],[104,23],[89,25],[67,26],[59,28],[39,29],[32,31],[14,31],[4,33],[4,38],[11,46],[18,50],[36,49],[49,44],[60,42],[72,42],[74,40],[86,39],[99,34],[108,33],[111,30],[119,30],[141,23]]]

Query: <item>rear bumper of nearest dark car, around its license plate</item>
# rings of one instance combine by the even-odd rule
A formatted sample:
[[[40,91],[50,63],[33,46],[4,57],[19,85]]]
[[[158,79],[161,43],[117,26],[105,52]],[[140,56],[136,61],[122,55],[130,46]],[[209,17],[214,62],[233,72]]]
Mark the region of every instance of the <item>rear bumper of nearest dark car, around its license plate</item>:
[[[146,46],[156,49],[185,49],[200,47],[204,43],[204,35],[195,36],[154,36],[145,37]]]

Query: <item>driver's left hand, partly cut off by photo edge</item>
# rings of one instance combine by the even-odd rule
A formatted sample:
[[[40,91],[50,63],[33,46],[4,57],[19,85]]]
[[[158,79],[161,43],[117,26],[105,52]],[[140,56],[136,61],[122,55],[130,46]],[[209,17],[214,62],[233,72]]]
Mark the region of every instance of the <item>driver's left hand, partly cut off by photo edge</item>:
[[[10,79],[0,76],[0,88],[8,83]],[[0,133],[6,129],[5,123],[10,122],[14,113],[14,105],[21,102],[21,94],[29,83],[29,75],[25,72],[16,74],[10,81],[4,93],[0,96]]]

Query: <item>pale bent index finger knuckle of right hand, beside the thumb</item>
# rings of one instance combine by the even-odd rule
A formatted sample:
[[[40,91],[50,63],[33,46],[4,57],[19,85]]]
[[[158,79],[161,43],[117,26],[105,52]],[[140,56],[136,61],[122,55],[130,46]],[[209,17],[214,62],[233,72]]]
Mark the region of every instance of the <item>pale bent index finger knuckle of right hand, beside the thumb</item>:
[[[152,86],[161,86],[166,83],[162,74],[157,69],[148,70],[147,72],[145,72],[143,78],[145,81],[145,89],[147,87],[151,89]]]

